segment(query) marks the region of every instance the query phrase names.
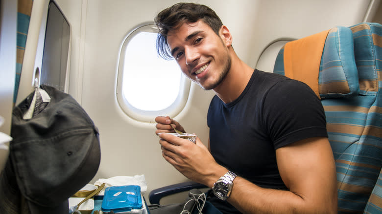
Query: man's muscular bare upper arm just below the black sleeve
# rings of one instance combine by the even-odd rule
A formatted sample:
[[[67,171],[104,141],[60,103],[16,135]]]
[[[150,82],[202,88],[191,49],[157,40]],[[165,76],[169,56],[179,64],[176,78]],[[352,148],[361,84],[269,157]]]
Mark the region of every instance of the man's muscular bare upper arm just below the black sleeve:
[[[326,137],[300,140],[276,150],[281,178],[290,192],[313,206],[336,207],[333,151]]]

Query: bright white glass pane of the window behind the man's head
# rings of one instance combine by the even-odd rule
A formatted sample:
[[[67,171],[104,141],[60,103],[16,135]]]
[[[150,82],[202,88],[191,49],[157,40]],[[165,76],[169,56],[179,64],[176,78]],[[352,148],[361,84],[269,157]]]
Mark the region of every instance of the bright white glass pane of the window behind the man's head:
[[[126,47],[122,92],[132,106],[142,110],[164,109],[179,92],[179,66],[157,57],[156,37],[157,33],[140,32]],[[160,96],[158,89],[166,96]]]

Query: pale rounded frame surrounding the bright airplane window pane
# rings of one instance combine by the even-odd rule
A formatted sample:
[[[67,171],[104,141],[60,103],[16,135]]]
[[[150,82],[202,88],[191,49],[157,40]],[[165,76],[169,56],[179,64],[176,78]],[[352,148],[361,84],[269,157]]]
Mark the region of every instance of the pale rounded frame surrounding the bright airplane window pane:
[[[122,91],[123,76],[125,75],[123,70],[124,70],[126,48],[130,40],[134,38],[140,32],[158,33],[158,29],[156,28],[153,22],[146,22],[135,27],[122,40],[121,46],[119,48],[118,75],[117,75],[117,85],[116,85],[117,86],[116,96],[117,96],[119,107],[127,116],[139,122],[154,123],[155,117],[159,115],[170,116],[171,118],[173,118],[184,109],[190,94],[191,81],[183,73],[181,75],[179,93],[175,101],[169,107],[165,109],[142,110],[131,105],[129,101],[123,95],[123,91]],[[179,69],[179,72],[181,72],[180,69]]]

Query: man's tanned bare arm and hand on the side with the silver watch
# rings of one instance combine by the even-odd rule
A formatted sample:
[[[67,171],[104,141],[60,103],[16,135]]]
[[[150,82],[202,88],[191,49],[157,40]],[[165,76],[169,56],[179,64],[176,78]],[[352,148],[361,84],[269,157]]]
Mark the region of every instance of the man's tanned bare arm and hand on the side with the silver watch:
[[[163,157],[189,179],[212,187],[228,171],[199,138],[193,144],[171,135],[160,137]],[[245,214],[337,213],[335,164],[327,138],[292,143],[276,150],[276,158],[289,191],[264,189],[238,176],[228,202]]]

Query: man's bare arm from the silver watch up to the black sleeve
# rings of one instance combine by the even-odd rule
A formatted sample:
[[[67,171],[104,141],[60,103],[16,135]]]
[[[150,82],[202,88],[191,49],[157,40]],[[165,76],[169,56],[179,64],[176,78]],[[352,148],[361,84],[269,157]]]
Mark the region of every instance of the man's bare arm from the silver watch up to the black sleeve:
[[[276,150],[280,175],[290,191],[263,189],[237,177],[228,202],[240,212],[337,213],[332,149],[327,138],[309,138]]]

